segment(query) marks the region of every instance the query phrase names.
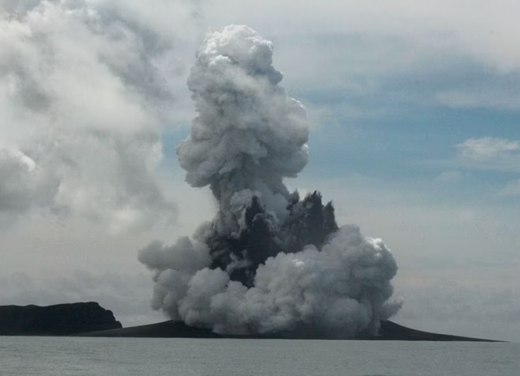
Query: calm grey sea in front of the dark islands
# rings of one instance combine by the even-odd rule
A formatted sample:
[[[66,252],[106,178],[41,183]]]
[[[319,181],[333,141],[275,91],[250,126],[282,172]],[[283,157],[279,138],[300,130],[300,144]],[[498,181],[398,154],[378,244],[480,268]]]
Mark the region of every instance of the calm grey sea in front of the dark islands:
[[[520,343],[0,337],[1,376],[517,376]]]

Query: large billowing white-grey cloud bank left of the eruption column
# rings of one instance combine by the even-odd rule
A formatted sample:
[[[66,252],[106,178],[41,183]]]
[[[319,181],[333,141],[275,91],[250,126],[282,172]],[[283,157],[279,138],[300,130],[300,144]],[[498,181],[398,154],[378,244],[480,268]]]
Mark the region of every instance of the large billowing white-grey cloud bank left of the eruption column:
[[[187,4],[0,1],[0,221],[43,208],[119,230],[175,216],[153,172]]]

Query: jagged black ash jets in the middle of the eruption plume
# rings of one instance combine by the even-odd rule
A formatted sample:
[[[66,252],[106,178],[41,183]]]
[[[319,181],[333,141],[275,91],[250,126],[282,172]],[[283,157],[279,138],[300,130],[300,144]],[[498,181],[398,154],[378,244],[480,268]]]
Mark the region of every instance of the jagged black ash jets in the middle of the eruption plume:
[[[317,191],[307,194],[301,201],[299,194],[294,192],[287,210],[289,216],[278,228],[273,225],[278,223],[276,216],[267,210],[258,196],[253,196],[238,234],[214,231],[206,239],[213,258],[211,269],[228,270],[230,264],[239,262],[242,266],[232,268],[230,279],[252,288],[256,269],[269,257],[300,252],[305,245],[321,249],[327,237],[338,230],[332,202],[324,205]]]

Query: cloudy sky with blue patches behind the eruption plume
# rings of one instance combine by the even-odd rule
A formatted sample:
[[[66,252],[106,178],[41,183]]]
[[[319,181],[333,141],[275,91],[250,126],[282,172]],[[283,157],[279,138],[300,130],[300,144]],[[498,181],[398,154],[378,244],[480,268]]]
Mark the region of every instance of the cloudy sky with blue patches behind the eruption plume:
[[[517,1],[0,1],[0,305],[164,319],[137,252],[213,217],[175,146],[208,30],[273,41],[338,223],[399,266],[396,322],[520,341]]]

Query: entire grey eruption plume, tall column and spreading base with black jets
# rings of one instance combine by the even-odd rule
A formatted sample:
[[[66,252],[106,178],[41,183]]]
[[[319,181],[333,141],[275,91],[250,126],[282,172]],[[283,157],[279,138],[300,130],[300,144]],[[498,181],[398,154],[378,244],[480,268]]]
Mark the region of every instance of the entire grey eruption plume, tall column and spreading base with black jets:
[[[301,198],[283,184],[307,164],[309,129],[272,53],[254,30],[230,25],[197,54],[188,86],[198,116],[177,155],[218,213],[192,237],[141,249],[153,308],[221,334],[376,334],[399,307],[396,262],[381,240],[338,228],[319,192]]]

